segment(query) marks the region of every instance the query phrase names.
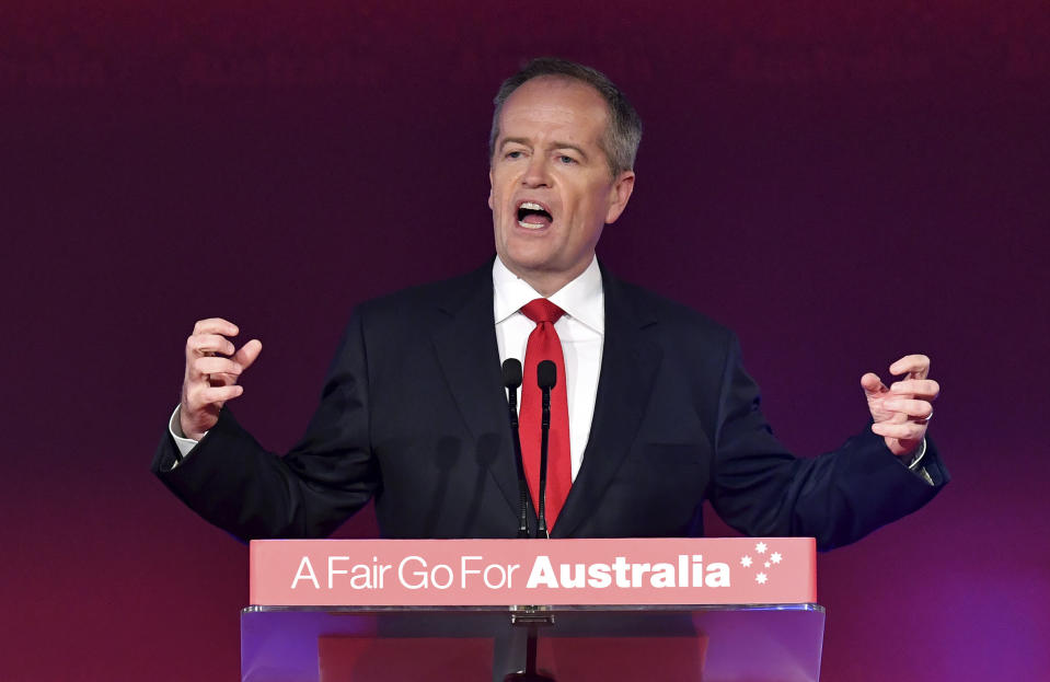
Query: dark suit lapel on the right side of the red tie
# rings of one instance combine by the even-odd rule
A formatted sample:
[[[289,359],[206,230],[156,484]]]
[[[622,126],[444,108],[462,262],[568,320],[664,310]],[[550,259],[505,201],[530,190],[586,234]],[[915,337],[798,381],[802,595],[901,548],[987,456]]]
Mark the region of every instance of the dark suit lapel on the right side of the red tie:
[[[595,512],[635,440],[661,359],[644,328],[656,323],[634,310],[619,280],[602,268],[605,336],[590,437],[584,461],[552,535],[568,537]]]

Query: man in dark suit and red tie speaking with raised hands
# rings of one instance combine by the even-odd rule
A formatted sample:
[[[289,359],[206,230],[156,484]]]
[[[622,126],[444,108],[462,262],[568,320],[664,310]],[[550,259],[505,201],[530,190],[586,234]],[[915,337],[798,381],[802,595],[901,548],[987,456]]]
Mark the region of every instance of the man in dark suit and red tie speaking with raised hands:
[[[359,307],[285,458],[224,407],[262,345],[235,349],[235,325],[198,322],[153,462],[176,495],[244,539],[325,535],[370,498],[384,536],[514,536],[518,477],[499,368],[507,358],[528,367],[538,334],[559,356],[552,411],[567,413],[552,427],[551,536],[700,534],[709,499],[746,533],[814,535],[830,548],[947,482],[925,439],[939,390],[925,356],[893,363],[902,379],[889,388],[865,374],[872,425],[834,452],[796,459],[759,411],[731,332],[601,268],[595,247],[630,200],[641,139],[634,108],[604,76],[535,60],[496,105],[496,258]],[[554,316],[535,319],[535,301]],[[522,438],[536,428],[522,424]],[[533,500],[535,448],[523,446]],[[534,533],[535,505],[528,518]]]

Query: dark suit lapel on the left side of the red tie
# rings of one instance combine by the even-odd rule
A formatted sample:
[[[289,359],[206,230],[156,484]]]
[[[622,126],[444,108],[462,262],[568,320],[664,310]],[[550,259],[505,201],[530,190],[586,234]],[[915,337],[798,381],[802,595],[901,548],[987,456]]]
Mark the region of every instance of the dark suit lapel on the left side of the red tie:
[[[448,322],[434,330],[434,347],[452,398],[473,437],[478,464],[488,469],[517,513],[518,477],[496,347],[491,262],[469,275],[466,285],[458,296],[439,303]],[[484,443],[489,438],[498,442],[495,454]]]

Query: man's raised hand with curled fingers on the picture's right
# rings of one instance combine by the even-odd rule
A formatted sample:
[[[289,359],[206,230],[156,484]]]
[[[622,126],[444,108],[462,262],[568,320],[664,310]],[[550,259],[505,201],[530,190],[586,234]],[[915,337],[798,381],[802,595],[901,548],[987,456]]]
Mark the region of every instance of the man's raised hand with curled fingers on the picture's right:
[[[861,386],[875,420],[872,430],[886,439],[893,454],[902,456],[914,452],[925,438],[941,386],[927,378],[930,358],[924,355],[904,356],[890,365],[889,372],[903,379],[887,388],[877,374],[868,372],[861,378]]]

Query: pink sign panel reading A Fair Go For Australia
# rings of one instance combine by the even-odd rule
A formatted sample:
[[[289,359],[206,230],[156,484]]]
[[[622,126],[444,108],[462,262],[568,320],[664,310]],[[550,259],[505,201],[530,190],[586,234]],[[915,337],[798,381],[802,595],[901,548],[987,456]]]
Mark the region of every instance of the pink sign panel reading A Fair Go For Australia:
[[[817,600],[811,537],[264,540],[269,606],[771,604]]]

